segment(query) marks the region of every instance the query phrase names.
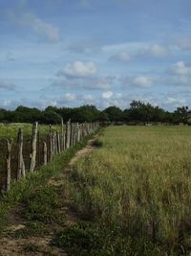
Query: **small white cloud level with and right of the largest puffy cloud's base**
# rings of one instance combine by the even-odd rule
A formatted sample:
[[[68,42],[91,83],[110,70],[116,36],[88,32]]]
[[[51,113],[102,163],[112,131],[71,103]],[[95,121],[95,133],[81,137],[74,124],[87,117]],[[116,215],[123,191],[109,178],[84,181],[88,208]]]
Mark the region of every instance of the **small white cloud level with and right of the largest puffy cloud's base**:
[[[151,87],[154,83],[152,78],[144,77],[144,76],[126,77],[126,78],[120,79],[120,81],[122,82],[122,84],[124,86],[125,85],[127,85],[127,86],[138,86],[138,87],[143,87],[143,88]]]

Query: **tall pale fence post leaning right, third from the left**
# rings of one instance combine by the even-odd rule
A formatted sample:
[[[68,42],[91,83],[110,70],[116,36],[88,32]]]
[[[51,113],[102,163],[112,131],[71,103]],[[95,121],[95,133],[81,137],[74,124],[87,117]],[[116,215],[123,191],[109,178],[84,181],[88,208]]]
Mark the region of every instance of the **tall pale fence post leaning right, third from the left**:
[[[32,154],[31,154],[30,172],[33,172],[35,168],[37,131],[38,131],[38,123],[35,122],[32,126]]]

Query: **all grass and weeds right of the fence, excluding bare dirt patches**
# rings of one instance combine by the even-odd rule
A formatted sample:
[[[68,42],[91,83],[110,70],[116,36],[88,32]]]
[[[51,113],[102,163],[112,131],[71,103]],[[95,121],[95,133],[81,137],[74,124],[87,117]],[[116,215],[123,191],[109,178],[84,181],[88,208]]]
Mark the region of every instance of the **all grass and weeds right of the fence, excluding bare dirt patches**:
[[[2,236],[26,239],[27,255],[58,255],[51,254],[54,248],[71,256],[189,255],[190,128],[106,128],[99,131],[95,151],[63,176],[63,167],[86,142],[55,156],[1,199]],[[68,203],[76,218],[70,225],[63,212]],[[24,228],[5,230],[12,213]],[[32,242],[46,236],[52,237],[49,250]]]

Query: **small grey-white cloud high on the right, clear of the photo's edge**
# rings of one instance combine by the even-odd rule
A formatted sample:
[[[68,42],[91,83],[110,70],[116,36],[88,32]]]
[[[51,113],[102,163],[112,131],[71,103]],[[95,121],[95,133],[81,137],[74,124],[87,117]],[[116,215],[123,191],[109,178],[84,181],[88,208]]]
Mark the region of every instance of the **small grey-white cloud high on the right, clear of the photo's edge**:
[[[165,58],[170,55],[168,47],[155,43],[147,48],[140,49],[138,55],[154,58]]]

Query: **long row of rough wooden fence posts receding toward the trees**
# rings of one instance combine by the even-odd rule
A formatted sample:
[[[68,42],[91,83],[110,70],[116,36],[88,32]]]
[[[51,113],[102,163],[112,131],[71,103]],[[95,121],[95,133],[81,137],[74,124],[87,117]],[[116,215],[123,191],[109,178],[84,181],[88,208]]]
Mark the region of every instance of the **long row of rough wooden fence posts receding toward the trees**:
[[[48,134],[39,134],[38,123],[32,126],[32,136],[24,136],[19,128],[17,141],[11,139],[0,140],[0,192],[11,189],[11,179],[19,180],[35,168],[52,161],[53,155],[74,146],[85,136],[98,128],[98,123],[73,124],[69,120],[61,131],[49,127]]]

